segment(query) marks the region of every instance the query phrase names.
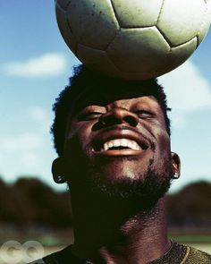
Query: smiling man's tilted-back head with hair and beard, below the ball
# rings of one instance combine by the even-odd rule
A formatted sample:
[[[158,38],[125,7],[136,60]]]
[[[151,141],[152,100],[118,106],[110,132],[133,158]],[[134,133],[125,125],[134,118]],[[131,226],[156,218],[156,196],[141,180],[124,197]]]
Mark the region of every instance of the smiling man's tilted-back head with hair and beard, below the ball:
[[[53,173],[73,189],[155,203],[179,173],[165,93],[156,80],[123,81],[80,66],[54,110],[60,158]]]

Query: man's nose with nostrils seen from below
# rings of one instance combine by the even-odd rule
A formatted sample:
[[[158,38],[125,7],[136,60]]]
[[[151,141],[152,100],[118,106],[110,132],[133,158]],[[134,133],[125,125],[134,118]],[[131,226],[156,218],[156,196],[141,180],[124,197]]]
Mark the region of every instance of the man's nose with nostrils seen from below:
[[[123,107],[116,106],[104,115],[101,115],[99,117],[99,123],[102,126],[125,123],[135,127],[139,123],[139,117]]]

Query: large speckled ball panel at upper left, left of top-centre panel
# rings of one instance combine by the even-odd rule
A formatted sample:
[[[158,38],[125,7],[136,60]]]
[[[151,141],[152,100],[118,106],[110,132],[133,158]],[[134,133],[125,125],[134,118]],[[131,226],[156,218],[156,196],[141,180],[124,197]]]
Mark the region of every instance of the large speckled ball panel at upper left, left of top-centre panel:
[[[104,50],[119,29],[110,0],[72,0],[68,21],[80,44]]]

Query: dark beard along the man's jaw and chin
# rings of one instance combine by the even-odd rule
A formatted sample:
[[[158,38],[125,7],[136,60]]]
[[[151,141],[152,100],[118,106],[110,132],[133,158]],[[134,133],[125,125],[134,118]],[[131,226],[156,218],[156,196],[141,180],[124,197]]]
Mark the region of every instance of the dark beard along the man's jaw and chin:
[[[122,202],[130,202],[141,210],[148,210],[156,206],[157,201],[165,195],[171,186],[173,179],[171,154],[156,169],[153,168],[154,159],[150,159],[147,170],[141,175],[135,175],[134,178],[121,175],[114,180],[107,179],[102,173],[102,164],[105,165],[106,162],[106,159],[101,159],[90,165],[89,161],[86,160],[82,169],[83,172],[80,170],[79,175],[78,171],[76,177],[76,182],[80,184],[80,188],[89,192],[96,199],[122,200]]]

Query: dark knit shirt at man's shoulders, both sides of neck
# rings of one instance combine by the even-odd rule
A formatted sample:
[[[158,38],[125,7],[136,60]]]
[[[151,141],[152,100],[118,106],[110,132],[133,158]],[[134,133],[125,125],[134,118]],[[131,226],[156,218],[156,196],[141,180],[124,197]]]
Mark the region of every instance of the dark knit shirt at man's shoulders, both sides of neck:
[[[148,264],[211,264],[211,255],[198,251],[188,245],[173,243],[172,247],[158,260]],[[72,255],[71,246],[62,251],[46,256],[42,260],[36,260],[30,264],[92,264],[88,260],[80,260]],[[94,264],[94,263],[93,263]]]

